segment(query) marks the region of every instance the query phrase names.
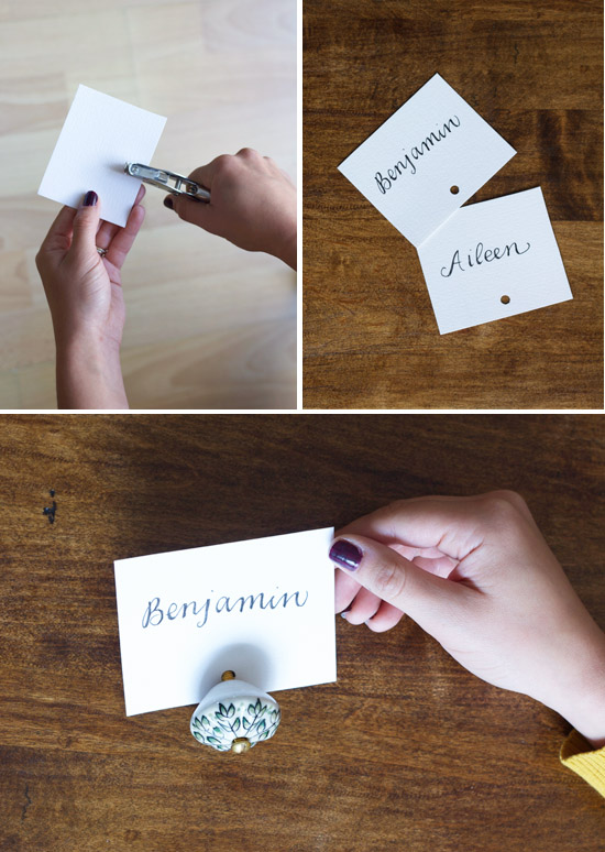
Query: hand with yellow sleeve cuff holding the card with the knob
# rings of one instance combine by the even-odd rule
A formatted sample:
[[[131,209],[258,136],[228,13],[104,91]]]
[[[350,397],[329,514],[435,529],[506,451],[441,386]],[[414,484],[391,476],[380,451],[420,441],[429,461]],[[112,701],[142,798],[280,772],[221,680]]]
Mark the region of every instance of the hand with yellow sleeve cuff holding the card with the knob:
[[[605,634],[518,494],[393,503],[341,529],[330,557],[351,624],[407,613],[474,675],[605,744]]]

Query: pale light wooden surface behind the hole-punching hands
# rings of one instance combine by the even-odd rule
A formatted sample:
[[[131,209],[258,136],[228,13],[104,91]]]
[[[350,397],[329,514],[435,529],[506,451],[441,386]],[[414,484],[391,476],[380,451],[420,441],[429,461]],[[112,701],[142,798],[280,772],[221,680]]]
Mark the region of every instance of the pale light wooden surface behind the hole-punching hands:
[[[59,206],[36,195],[79,83],[167,116],[154,164],[187,174],[255,148],[296,177],[295,0],[0,2],[0,407],[54,408],[34,258]],[[131,406],[296,407],[296,276],[163,207],[124,272]]]

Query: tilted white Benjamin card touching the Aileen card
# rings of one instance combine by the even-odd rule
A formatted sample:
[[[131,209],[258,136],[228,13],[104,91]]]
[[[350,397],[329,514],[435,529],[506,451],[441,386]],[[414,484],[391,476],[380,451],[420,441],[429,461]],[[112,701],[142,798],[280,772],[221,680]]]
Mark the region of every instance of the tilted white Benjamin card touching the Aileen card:
[[[418,247],[515,153],[436,74],[339,170]]]

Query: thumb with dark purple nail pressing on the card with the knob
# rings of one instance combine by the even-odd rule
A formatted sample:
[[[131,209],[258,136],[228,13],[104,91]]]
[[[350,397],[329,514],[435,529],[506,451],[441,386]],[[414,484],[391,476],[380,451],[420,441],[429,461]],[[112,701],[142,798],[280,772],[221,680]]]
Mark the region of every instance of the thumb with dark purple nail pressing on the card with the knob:
[[[473,594],[468,586],[429,574],[392,547],[361,535],[337,538],[330,559],[433,635],[446,620],[462,615]]]

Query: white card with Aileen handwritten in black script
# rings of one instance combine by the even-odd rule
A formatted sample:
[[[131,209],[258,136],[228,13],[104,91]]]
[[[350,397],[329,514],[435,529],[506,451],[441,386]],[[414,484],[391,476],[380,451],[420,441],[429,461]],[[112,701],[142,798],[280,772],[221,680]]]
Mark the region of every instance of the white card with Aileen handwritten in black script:
[[[540,187],[462,207],[418,256],[442,335],[573,298]]]

